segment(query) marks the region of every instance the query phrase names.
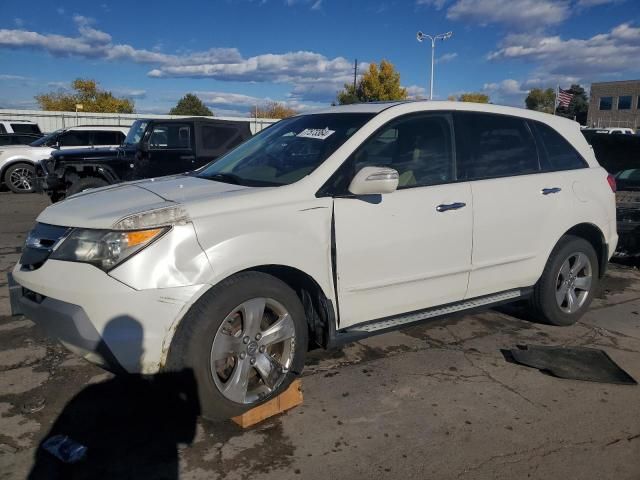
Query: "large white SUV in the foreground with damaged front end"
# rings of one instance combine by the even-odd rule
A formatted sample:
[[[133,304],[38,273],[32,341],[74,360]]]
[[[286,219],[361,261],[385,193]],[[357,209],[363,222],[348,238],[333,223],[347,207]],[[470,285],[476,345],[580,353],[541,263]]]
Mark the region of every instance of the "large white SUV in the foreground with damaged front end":
[[[560,117],[336,107],[198,172],[48,207],[13,303],[109,368],[192,369],[203,412],[225,417],[285,389],[309,344],[523,298],[575,322],[616,247],[614,188]]]

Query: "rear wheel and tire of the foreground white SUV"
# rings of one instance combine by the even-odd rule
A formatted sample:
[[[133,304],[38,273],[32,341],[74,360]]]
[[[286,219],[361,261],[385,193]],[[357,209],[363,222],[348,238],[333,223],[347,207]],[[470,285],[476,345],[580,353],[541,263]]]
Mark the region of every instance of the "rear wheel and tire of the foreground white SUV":
[[[550,325],[576,323],[593,300],[599,281],[593,245],[565,235],[555,246],[530,300],[536,318]]]

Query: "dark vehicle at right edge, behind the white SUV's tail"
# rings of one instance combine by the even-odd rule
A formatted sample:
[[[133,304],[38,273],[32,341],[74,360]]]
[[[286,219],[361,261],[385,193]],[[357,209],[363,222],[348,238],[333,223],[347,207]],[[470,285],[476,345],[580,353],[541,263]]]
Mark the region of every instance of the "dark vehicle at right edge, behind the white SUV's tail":
[[[640,257],[640,137],[597,135],[592,140],[600,165],[615,176],[620,257]]]

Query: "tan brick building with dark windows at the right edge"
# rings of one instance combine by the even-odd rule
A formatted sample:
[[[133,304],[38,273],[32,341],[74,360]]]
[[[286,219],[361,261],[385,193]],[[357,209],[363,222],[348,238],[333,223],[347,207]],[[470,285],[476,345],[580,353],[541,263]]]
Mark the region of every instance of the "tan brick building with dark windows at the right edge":
[[[591,85],[587,125],[640,129],[640,80]]]

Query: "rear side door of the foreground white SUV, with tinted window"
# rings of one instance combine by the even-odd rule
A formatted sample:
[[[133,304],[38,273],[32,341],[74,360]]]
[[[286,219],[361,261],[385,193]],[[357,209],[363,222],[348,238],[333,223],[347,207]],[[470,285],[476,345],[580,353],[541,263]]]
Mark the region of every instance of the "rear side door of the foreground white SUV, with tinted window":
[[[467,298],[538,280],[570,215],[571,184],[545,172],[530,124],[479,112],[455,115],[458,176],[473,195],[473,254]]]

